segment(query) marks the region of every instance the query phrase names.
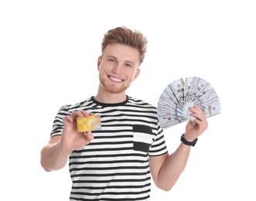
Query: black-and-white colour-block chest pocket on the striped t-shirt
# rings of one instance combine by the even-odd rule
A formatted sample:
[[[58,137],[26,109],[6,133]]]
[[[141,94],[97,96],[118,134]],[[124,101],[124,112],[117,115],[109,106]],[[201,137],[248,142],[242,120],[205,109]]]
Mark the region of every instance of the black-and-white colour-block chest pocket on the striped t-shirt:
[[[132,125],[133,129],[133,149],[135,151],[148,152],[152,144],[152,128],[135,124]]]

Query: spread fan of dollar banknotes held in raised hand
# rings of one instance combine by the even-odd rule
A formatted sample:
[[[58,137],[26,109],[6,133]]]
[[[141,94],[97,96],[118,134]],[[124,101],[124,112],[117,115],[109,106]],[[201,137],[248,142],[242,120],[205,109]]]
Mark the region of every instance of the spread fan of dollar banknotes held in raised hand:
[[[162,91],[158,102],[158,118],[162,128],[184,121],[194,121],[189,107],[198,105],[207,118],[220,114],[220,100],[216,91],[200,77],[174,80]]]

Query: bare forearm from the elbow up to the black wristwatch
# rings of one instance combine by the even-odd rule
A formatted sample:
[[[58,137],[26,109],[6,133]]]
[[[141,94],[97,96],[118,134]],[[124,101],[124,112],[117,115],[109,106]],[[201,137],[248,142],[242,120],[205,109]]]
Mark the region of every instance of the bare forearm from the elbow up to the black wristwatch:
[[[160,189],[169,191],[175,185],[186,167],[190,148],[190,146],[181,143],[176,151],[166,158],[159,171],[158,186]]]

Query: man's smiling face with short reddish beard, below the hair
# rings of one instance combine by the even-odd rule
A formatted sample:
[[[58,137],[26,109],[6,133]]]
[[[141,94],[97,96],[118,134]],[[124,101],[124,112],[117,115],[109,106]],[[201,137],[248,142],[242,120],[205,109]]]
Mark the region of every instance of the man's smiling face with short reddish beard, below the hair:
[[[111,94],[120,94],[130,87],[139,73],[138,50],[114,43],[106,46],[97,61],[101,87]]]

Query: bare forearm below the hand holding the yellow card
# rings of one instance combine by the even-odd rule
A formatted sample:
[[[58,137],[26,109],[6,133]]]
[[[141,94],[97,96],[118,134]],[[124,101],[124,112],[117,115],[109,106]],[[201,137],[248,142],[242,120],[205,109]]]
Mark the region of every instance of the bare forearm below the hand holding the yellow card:
[[[41,165],[47,172],[63,169],[70,153],[63,152],[60,141],[46,145],[41,151]]]

